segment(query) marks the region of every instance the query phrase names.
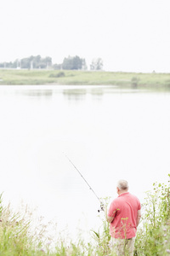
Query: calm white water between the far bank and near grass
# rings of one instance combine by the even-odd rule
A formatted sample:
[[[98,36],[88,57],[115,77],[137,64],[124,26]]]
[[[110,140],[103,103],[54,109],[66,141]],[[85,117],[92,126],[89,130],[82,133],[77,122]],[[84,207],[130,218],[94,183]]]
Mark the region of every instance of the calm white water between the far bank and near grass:
[[[99,228],[99,197],[116,181],[144,191],[170,173],[170,94],[111,86],[1,86],[0,190],[38,207],[57,229]]]

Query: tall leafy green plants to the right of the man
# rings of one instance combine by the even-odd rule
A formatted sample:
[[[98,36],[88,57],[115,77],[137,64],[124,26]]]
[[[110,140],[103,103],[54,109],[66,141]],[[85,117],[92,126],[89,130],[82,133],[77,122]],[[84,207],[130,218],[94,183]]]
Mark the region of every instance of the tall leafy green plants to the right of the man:
[[[170,177],[170,175],[169,175]],[[146,193],[144,215],[136,239],[134,255],[170,253],[170,183],[154,183]]]

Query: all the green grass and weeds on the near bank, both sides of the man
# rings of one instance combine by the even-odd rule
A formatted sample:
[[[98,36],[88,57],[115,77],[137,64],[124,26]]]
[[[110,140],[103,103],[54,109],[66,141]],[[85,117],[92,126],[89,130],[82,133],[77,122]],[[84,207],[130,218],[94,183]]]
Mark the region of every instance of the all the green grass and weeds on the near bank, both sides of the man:
[[[169,175],[170,177],[170,175]],[[107,205],[107,202],[106,202]],[[170,183],[154,183],[146,193],[142,205],[143,216],[135,241],[134,255],[164,256],[170,254]],[[31,229],[31,218],[13,213],[3,207],[0,198],[0,255],[20,256],[114,256],[111,248],[109,224],[104,215],[99,230],[91,230],[92,241],[85,242],[81,236],[77,242],[65,242],[60,238],[53,249],[50,239],[43,237],[45,226]]]

